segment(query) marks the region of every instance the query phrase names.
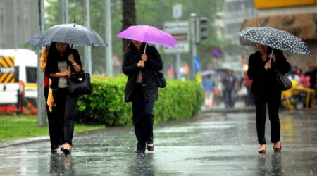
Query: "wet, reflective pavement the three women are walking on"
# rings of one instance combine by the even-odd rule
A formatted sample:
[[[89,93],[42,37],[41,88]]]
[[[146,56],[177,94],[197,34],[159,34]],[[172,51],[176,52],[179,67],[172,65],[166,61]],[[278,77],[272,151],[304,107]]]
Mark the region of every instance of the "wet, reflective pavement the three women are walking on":
[[[280,153],[267,119],[259,154],[254,111],[238,109],[155,125],[154,151],[141,154],[132,127],[76,135],[70,156],[51,154],[47,137],[2,143],[0,175],[317,175],[317,111],[280,113]]]

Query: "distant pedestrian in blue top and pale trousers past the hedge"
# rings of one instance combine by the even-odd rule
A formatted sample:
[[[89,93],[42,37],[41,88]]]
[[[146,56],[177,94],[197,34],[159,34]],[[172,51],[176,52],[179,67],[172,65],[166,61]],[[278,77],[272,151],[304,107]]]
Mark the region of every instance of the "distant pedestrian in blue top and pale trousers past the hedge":
[[[211,74],[204,78],[202,88],[204,89],[205,106],[211,108],[213,106],[213,91],[215,90],[215,80],[213,80]]]

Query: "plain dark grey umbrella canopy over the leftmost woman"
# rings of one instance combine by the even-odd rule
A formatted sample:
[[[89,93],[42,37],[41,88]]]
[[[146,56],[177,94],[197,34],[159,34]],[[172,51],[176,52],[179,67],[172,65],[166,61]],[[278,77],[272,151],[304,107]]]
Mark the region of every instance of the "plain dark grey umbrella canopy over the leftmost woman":
[[[97,32],[75,23],[54,25],[41,34],[37,34],[27,43],[46,46],[49,42],[63,42],[77,46],[108,46]]]

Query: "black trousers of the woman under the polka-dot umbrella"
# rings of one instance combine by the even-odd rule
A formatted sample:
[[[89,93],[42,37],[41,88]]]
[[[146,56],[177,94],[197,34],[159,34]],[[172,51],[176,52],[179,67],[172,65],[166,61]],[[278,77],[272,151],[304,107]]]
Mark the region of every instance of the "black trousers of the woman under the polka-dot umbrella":
[[[266,106],[268,107],[268,118],[271,122],[271,142],[280,141],[280,108],[281,92],[268,92],[265,94],[254,93],[256,106],[256,132],[259,144],[266,144]]]

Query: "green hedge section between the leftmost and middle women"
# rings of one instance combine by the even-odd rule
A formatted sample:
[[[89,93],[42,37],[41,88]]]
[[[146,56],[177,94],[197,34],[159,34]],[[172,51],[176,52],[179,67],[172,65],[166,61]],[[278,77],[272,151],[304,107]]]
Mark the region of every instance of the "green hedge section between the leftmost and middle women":
[[[106,126],[131,125],[130,104],[124,103],[126,78],[93,76],[92,95],[78,101],[80,122],[101,123]]]

